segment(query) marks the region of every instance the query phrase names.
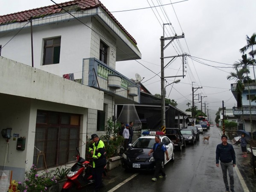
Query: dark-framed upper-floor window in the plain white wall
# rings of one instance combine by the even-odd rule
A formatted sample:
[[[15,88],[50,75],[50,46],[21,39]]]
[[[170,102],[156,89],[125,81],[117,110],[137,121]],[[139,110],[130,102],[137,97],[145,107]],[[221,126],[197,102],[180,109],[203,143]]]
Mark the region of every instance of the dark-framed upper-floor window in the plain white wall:
[[[44,40],[43,65],[60,63],[61,37]]]

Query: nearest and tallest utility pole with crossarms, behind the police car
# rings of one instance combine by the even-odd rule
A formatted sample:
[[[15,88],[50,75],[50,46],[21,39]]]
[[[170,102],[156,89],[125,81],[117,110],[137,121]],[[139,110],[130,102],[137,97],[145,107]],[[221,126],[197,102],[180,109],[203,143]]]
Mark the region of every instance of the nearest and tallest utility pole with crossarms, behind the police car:
[[[165,77],[164,76],[164,68],[167,67],[167,65],[175,58],[175,57],[184,57],[187,54],[182,54],[182,55],[177,55],[177,56],[169,56],[169,57],[164,57],[163,51],[164,49],[166,49],[166,47],[169,46],[169,44],[172,43],[172,41],[174,41],[175,39],[179,39],[179,38],[184,38],[184,33],[182,33],[182,35],[177,35],[175,34],[175,36],[173,37],[164,37],[164,26],[165,25],[171,25],[171,23],[164,23],[163,24],[163,36],[161,36],[160,41],[161,41],[161,123],[162,123],[162,127],[166,126],[166,116],[165,116],[165,87],[164,87],[164,79],[165,78],[169,78],[169,77],[183,77],[184,78],[184,59],[183,59],[183,75],[182,76],[169,76],[169,77]],[[164,41],[166,40],[171,40],[168,42],[168,44],[166,46],[164,46]],[[164,66],[164,58],[173,58],[168,64],[166,64],[166,66]]]

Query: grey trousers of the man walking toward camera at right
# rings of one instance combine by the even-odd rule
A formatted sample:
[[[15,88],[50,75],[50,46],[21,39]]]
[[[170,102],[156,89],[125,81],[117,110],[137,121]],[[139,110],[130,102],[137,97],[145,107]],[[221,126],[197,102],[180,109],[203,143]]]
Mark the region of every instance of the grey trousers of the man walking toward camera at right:
[[[224,180],[224,184],[226,189],[229,189],[228,186],[228,181],[227,181],[227,171],[228,171],[228,175],[230,177],[230,190],[234,190],[234,174],[233,174],[233,163],[223,163],[221,162],[221,170],[222,170],[222,174],[223,174],[223,180]]]

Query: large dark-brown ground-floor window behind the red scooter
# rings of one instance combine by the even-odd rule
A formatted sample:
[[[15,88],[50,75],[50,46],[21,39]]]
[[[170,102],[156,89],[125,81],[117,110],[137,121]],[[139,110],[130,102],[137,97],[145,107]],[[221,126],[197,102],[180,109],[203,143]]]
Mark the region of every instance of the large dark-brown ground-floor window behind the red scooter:
[[[40,170],[74,162],[79,133],[79,114],[38,111],[33,164]]]

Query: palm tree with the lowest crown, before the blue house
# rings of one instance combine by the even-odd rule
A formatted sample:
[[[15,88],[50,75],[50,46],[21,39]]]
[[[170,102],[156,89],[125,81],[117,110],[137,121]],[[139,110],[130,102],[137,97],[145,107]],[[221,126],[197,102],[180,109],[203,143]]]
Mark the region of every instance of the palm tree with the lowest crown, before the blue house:
[[[243,110],[243,102],[242,102],[242,93],[244,90],[244,81],[247,81],[248,76],[244,76],[244,74],[250,73],[247,67],[242,67],[241,69],[236,69],[236,73],[230,72],[230,75],[227,76],[228,80],[235,79],[236,80],[236,92],[238,93],[238,105],[240,104],[242,109],[242,119],[243,119],[243,129],[244,129],[244,110]],[[238,106],[239,107],[239,106]]]

